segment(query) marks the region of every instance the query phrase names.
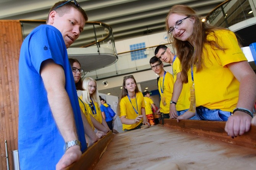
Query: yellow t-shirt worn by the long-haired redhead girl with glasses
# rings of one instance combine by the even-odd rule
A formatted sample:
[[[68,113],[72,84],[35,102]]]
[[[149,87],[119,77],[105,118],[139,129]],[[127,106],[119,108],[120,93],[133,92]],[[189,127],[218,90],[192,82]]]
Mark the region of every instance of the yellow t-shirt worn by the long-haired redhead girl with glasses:
[[[247,59],[233,32],[216,30],[217,40],[212,34],[209,34],[207,39],[217,41],[220,47],[227,49],[214,50],[209,45],[204,45],[203,59],[206,67],[199,72],[196,72],[195,66],[193,67],[196,107],[204,106],[232,112],[237,105],[240,83],[227,64]],[[188,72],[188,81],[192,84],[191,71]]]

